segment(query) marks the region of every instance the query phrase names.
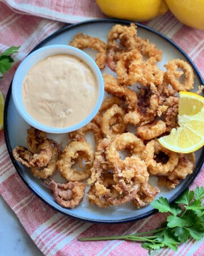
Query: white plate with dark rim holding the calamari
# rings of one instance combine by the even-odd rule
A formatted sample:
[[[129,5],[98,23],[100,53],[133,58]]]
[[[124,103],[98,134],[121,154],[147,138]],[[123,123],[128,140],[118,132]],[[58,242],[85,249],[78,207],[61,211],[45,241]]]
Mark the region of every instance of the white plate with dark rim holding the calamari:
[[[99,37],[100,39],[107,41],[107,33],[111,29],[111,27],[116,24],[129,24],[129,22],[123,20],[111,20],[111,19],[102,19],[102,20],[91,20],[90,22],[78,23],[67,26],[62,30],[56,32],[49,38],[45,39],[43,42],[39,44],[35,49],[40,48],[42,46],[49,46],[51,44],[67,44],[73,38],[73,36],[79,32],[83,32],[84,34]],[[163,58],[160,61],[159,68],[163,69],[163,65],[168,62],[170,59],[183,59],[187,60],[192,64],[195,73],[195,85],[204,84],[201,75],[198,72],[198,69],[193,64],[192,60],[186,55],[181,48],[179,48],[175,43],[173,43],[166,36],[160,34],[143,26],[141,24],[138,25],[138,35],[142,38],[148,38],[150,42],[155,43],[159,49],[163,51]],[[95,59],[95,52],[88,50],[86,51],[90,54],[91,57]],[[105,68],[105,73],[111,73],[108,68]],[[87,202],[86,196],[80,204],[75,209],[65,209],[59,206],[52,196],[52,193],[48,188],[45,187],[44,183],[40,179],[36,179],[29,171],[28,168],[25,168],[19,162],[12,157],[12,148],[16,145],[26,146],[26,136],[27,129],[29,128],[28,124],[20,117],[17,110],[15,109],[14,102],[11,96],[11,86],[7,94],[6,104],[5,104],[5,138],[6,144],[8,148],[8,152],[10,154],[11,160],[14,163],[16,170],[19,175],[24,180],[25,184],[35,193],[41,200],[43,200],[46,204],[50,205],[54,209],[58,210],[61,213],[67,214],[67,216],[79,218],[83,221],[91,221],[91,222],[99,222],[99,223],[119,223],[119,222],[128,222],[139,220],[143,217],[147,217],[150,214],[155,213],[156,211],[152,209],[150,205],[145,208],[137,210],[130,203],[120,205],[118,207],[108,207],[108,208],[98,208],[95,205],[91,205]],[[52,135],[49,135],[52,136]],[[58,142],[65,141],[67,142],[67,134],[63,135],[54,135],[52,138],[56,139]],[[162,188],[159,196],[167,197],[169,201],[173,201],[177,196],[180,195],[182,191],[190,183],[192,183],[193,179],[198,174],[201,169],[203,163],[203,151],[199,150],[196,152],[196,168],[192,175],[189,175],[185,180],[183,180],[175,189],[168,191],[168,189]]]

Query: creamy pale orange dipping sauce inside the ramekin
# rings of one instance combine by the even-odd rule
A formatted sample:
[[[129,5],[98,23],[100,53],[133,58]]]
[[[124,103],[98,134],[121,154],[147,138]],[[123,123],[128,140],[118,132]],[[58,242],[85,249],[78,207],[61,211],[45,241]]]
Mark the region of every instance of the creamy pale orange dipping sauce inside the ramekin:
[[[96,77],[78,57],[57,54],[29,69],[22,98],[27,112],[50,127],[69,127],[90,114],[98,96]]]

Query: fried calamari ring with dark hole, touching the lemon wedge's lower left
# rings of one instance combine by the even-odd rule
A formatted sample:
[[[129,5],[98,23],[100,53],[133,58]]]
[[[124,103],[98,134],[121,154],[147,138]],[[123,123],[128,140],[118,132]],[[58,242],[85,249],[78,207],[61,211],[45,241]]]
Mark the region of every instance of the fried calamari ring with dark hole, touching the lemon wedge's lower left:
[[[142,159],[145,160],[150,174],[159,176],[173,171],[179,162],[179,154],[164,148],[158,139],[152,139],[146,144]]]

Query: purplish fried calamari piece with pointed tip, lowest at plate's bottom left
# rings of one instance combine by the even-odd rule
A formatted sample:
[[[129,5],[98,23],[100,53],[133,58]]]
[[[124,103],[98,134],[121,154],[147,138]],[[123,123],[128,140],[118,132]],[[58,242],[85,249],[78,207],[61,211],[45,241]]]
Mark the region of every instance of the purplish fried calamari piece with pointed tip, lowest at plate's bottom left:
[[[64,208],[74,209],[83,199],[85,187],[84,183],[69,181],[67,183],[56,183],[54,180],[44,180],[44,183],[52,191],[56,202]]]

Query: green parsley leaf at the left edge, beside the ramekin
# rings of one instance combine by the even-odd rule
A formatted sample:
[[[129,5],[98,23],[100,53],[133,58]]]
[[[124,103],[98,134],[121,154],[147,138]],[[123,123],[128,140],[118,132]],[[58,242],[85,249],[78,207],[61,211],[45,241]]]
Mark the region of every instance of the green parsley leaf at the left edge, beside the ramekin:
[[[19,48],[11,46],[0,54],[0,78],[11,68],[12,62],[14,62],[11,55],[17,53]]]

